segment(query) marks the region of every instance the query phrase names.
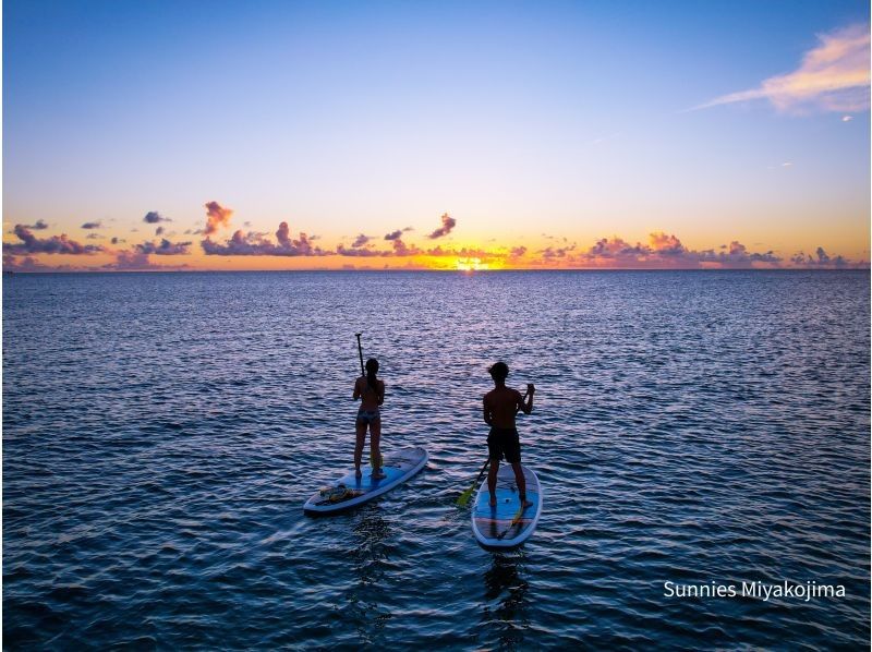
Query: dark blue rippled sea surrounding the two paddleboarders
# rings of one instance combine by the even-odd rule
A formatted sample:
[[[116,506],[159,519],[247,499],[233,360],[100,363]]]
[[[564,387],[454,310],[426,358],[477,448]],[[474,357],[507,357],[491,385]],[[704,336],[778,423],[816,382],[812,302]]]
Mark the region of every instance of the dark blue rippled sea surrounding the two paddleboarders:
[[[17,275],[3,282],[8,648],[856,647],[870,629],[868,271]],[[334,518],[354,333],[384,447]],[[545,510],[455,500],[497,359]],[[678,599],[664,582],[840,584]]]

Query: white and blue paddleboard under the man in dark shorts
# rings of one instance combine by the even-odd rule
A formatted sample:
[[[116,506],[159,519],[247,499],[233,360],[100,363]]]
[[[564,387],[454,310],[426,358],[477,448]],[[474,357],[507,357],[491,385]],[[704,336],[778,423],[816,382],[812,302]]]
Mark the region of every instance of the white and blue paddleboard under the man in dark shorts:
[[[491,507],[487,479],[479,487],[472,507],[472,532],[485,548],[511,548],[521,545],[535,531],[542,514],[542,487],[532,469],[521,467],[526,482],[526,499],[533,505],[521,509],[518,485],[511,464],[500,464],[497,473],[497,506]]]

